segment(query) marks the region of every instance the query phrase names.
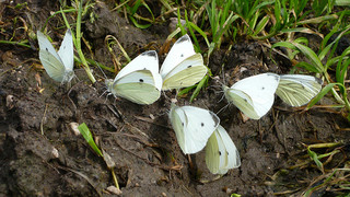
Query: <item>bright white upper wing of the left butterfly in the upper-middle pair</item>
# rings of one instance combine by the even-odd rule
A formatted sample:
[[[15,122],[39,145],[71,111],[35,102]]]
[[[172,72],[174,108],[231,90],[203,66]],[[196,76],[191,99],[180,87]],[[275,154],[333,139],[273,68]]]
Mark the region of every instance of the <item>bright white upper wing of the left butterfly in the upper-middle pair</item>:
[[[132,59],[127,66],[125,66],[114,81],[118,81],[125,78],[131,72],[139,70],[149,70],[152,73],[153,81],[152,84],[158,89],[162,89],[162,77],[159,73],[159,59],[154,50],[148,50],[140,54],[138,57]]]

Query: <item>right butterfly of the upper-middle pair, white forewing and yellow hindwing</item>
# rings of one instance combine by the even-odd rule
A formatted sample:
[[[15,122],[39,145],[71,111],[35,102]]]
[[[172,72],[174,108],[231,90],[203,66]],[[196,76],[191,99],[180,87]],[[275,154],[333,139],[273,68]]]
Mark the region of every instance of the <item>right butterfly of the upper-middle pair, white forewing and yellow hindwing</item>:
[[[176,40],[162,65],[162,90],[194,85],[207,71],[202,56],[195,53],[194,45],[186,34]]]

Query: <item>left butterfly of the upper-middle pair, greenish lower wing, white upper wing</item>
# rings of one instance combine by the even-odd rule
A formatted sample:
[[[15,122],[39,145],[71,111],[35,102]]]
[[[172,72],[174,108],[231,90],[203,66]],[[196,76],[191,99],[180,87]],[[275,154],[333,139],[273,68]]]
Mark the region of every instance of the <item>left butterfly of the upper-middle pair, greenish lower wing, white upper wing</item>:
[[[137,104],[152,104],[161,96],[162,77],[154,50],[144,51],[105,81],[108,92]]]

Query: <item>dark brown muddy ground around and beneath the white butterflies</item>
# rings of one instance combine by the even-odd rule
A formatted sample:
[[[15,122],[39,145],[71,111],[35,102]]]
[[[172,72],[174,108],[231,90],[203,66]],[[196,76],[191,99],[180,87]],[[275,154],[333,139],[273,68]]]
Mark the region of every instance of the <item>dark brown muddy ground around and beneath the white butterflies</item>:
[[[46,1],[31,1],[19,10],[12,7],[1,4],[2,30],[8,31],[1,33],[1,39],[9,39],[9,32],[15,32],[16,40],[28,38],[44,26],[50,11],[59,10],[58,3]],[[83,25],[92,47],[85,54],[94,55],[101,63],[113,67],[104,43],[106,35],[116,36],[133,58],[147,49],[159,50],[170,34],[168,21],[141,31],[110,10],[108,4],[97,3],[91,10],[95,21],[86,20]],[[73,22],[71,15],[74,14],[68,14],[68,19]],[[9,24],[14,18],[18,23]],[[18,28],[24,24],[28,30]],[[62,24],[60,16],[48,22],[49,35],[58,43],[66,30],[60,28]],[[190,104],[215,113],[222,109],[218,116],[241,153],[242,165],[217,179],[205,164],[203,151],[190,157],[191,166],[176,142],[167,118],[175,91],[165,92],[161,100],[145,106],[124,99],[115,101],[103,95],[105,85],[100,70],[93,68],[98,81],[91,84],[78,63],[79,81],[73,80],[71,89],[67,89],[43,70],[37,40],[30,40],[32,49],[3,44],[0,49],[0,196],[109,196],[106,188],[114,185],[110,172],[83,137],[71,131],[71,123],[86,123],[100,147],[116,162],[124,196],[299,196],[308,186],[323,182],[316,179],[322,172],[313,162],[292,167],[310,161],[303,143],[340,142],[341,153],[325,165],[328,172],[343,167],[349,157],[349,150],[342,147],[350,139],[345,130],[349,124],[339,109],[314,107],[305,112],[277,99],[265,117],[247,121],[233,105],[222,109],[228,103],[222,100],[220,82],[231,85],[248,76],[287,73],[292,68],[277,54],[272,55],[275,65],[269,48],[259,42],[240,38],[230,51],[223,45],[209,61],[220,82],[210,80],[192,103],[188,102],[190,95],[178,99],[178,105]],[[117,48],[115,53],[119,56]],[[334,101],[328,95],[318,105],[330,103]],[[329,187],[314,193],[334,194]]]

